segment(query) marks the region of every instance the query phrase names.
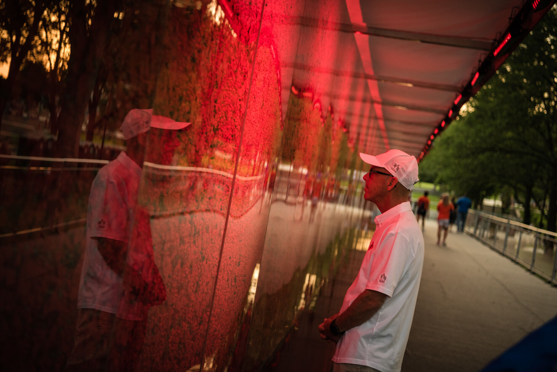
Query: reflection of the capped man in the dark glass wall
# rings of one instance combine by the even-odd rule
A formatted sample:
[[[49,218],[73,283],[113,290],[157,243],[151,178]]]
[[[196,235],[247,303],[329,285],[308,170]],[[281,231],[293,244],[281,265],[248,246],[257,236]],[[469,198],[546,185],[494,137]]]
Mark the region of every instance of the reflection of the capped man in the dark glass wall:
[[[137,205],[146,132],[188,124],[152,115],[152,110],[131,110],[122,124],[126,151],[102,167],[93,181],[75,345],[66,371],[135,368],[147,310],[166,298],[153,260],[149,214]]]

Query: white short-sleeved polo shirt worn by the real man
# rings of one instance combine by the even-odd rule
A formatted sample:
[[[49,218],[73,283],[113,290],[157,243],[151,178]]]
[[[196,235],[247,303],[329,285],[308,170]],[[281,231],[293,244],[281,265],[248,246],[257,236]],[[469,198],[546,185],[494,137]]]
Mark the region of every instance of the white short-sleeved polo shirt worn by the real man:
[[[345,332],[336,344],[333,361],[398,372],[416,307],[424,242],[409,202],[380,214],[375,224],[368,252],[340,313],[366,289],[389,297],[368,321]]]

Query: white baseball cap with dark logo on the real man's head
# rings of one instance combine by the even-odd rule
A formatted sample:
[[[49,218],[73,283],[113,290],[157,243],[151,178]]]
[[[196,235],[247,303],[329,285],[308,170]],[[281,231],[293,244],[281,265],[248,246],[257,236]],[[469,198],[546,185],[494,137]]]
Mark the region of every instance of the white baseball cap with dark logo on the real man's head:
[[[418,161],[404,151],[393,149],[377,156],[360,153],[360,158],[370,165],[387,169],[408,190],[412,190],[419,180]]]

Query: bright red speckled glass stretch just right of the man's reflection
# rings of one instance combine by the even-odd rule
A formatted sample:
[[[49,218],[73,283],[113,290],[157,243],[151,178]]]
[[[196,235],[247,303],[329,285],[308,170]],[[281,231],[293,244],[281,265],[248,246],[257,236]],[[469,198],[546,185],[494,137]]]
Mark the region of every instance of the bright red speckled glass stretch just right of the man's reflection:
[[[272,76],[260,69],[250,79],[262,4],[237,2],[238,17],[227,19],[230,9],[216,1],[191,6],[169,9],[153,112],[192,124],[178,134],[149,131],[139,204],[150,216],[154,253],[141,256],[130,243],[128,256],[130,276],[136,268],[160,300],[147,304],[141,320],[146,335],[144,341],[134,337],[136,354],[126,355],[120,345],[113,349],[115,358],[138,359],[139,370],[214,370],[229,363],[265,234],[265,214],[258,209],[280,118],[276,77],[266,81]],[[263,62],[272,66],[268,55]],[[244,124],[250,84],[256,94]],[[263,111],[263,102],[270,109]],[[142,224],[137,211],[135,216],[132,238],[149,229],[149,220]],[[223,250],[225,231],[232,247]],[[153,275],[139,270],[154,266]],[[130,332],[121,325],[115,334],[118,340]]]

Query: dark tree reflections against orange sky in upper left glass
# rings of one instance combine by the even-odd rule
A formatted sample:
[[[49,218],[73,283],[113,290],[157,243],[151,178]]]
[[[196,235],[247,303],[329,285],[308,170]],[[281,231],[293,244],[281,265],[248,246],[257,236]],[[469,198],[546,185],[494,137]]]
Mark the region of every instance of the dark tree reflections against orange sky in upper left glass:
[[[96,124],[115,129],[129,109],[152,104],[167,11],[151,1],[3,2],[0,61],[11,64],[0,112],[17,98],[20,67],[42,63],[58,155],[76,157],[87,110],[91,140]]]

